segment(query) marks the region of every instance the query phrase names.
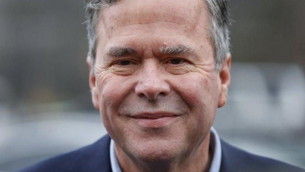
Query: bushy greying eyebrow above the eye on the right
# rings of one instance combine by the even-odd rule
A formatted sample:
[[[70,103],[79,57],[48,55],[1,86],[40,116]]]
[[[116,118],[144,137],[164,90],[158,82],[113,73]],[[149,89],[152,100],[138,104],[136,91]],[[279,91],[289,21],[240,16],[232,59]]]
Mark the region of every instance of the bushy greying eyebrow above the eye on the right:
[[[169,47],[160,47],[159,52],[164,55],[192,54],[194,48],[191,45],[174,45]]]

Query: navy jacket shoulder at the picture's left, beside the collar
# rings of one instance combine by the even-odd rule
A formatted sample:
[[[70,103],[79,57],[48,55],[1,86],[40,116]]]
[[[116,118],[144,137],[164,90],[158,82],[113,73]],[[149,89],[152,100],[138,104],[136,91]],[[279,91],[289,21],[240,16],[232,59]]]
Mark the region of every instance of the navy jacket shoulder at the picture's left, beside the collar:
[[[110,137],[105,135],[93,144],[52,157],[18,172],[111,171],[109,147]]]

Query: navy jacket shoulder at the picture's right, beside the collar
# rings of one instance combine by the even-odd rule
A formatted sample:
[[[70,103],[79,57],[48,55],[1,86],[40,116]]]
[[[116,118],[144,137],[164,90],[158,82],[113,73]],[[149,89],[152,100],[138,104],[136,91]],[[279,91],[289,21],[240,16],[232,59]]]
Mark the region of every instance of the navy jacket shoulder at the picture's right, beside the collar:
[[[305,172],[299,167],[238,149],[221,140],[222,158],[221,172],[230,171],[296,171]]]

